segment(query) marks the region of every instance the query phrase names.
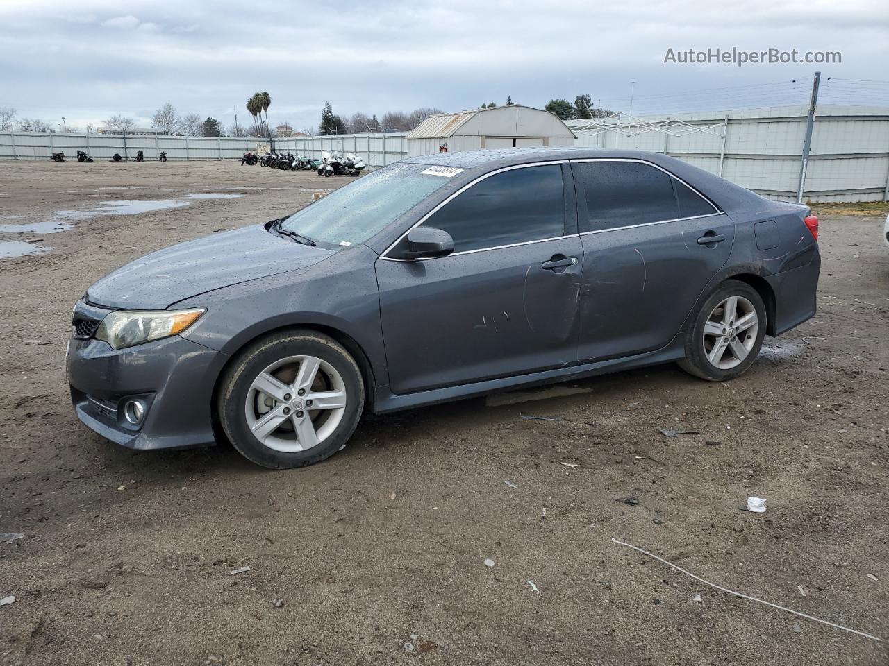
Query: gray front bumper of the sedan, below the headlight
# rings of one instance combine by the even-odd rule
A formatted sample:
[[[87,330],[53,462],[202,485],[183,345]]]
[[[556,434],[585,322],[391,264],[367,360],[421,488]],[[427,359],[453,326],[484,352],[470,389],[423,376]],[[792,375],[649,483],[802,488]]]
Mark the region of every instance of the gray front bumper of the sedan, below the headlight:
[[[127,448],[191,448],[214,443],[212,391],[228,356],[179,336],[114,350],[95,338],[68,348],[71,401],[84,424]],[[138,426],[124,418],[139,398]]]

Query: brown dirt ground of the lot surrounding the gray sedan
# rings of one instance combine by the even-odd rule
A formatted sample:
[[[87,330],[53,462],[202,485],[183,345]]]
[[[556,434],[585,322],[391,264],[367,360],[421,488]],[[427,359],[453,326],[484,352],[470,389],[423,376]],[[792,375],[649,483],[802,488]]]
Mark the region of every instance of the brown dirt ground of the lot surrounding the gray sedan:
[[[0,542],[0,598],[17,598],[0,607],[0,662],[889,662],[885,642],[612,542],[889,641],[879,207],[821,210],[820,312],[766,338],[731,383],[668,365],[365,417],[340,454],[290,472],[227,445],[133,453],[79,424],[63,361],[92,281],[348,181],[235,163],[0,163],[0,224],[44,229],[0,242],[52,247],[0,259],[0,532],[25,535]],[[72,218],[58,210],[214,193],[245,195],[45,233]],[[765,514],[739,510],[753,495]]]

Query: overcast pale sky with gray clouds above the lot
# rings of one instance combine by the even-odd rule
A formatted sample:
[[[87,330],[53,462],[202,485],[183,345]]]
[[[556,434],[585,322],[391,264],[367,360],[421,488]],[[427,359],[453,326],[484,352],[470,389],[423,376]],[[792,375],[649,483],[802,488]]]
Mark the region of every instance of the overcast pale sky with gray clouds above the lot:
[[[118,113],[148,126],[166,101],[225,124],[236,107],[246,123],[244,102],[260,90],[271,94],[273,124],[302,129],[317,125],[324,100],[348,116],[454,111],[508,95],[542,107],[589,93],[627,110],[635,81],[637,111],[670,111],[696,99],[803,101],[815,69],[889,79],[885,0],[2,0],[0,26],[0,107],[81,128]],[[708,47],[838,51],[842,64],[664,63],[669,48]],[[776,85],[656,97],[758,83]],[[837,88],[889,105],[887,90]]]

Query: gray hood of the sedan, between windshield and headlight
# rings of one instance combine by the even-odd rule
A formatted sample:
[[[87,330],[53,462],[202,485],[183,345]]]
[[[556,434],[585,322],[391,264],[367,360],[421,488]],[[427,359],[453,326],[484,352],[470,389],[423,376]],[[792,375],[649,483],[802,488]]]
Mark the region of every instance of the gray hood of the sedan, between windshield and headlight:
[[[183,298],[311,266],[332,250],[310,247],[247,226],[151,252],[86,290],[95,305],[164,310]]]

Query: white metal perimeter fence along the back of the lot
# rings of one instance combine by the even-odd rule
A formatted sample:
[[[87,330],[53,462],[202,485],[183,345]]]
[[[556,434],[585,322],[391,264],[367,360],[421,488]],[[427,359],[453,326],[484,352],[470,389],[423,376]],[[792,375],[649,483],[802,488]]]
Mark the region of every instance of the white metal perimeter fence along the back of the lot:
[[[584,147],[632,148],[672,155],[773,199],[796,201],[805,142],[806,107],[773,107],[729,114],[645,115],[569,121]],[[108,134],[0,133],[0,159],[48,159],[86,150],[96,160],[166,151],[171,160],[236,159],[258,139]],[[405,133],[346,134],[275,139],[281,152],[320,159],[323,150],[355,153],[371,169],[407,155]],[[889,201],[889,109],[819,106],[806,169],[804,200]]]

